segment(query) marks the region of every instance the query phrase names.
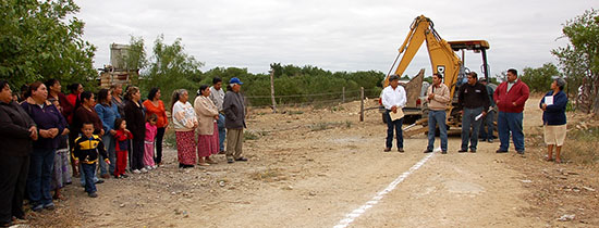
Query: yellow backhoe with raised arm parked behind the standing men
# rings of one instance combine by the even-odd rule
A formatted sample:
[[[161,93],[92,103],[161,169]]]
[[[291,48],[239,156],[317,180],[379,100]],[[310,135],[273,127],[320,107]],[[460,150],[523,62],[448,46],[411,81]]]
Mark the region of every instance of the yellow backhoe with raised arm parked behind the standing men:
[[[461,85],[461,81],[465,77],[468,69],[464,66],[464,62],[462,61],[464,58],[460,59],[455,52],[462,51],[462,54],[464,54],[464,50],[480,52],[482,54],[481,72],[485,75],[485,78],[488,79],[489,71],[487,63],[487,49],[489,49],[489,43],[485,40],[448,42],[442,39],[441,36],[439,36],[437,30],[435,30],[432,21],[424,15],[420,15],[416,17],[409,26],[409,33],[407,34],[407,37],[399,49],[400,52],[398,54],[398,58],[395,59],[395,61],[393,62],[393,66],[391,67],[392,71],[398,63],[398,60],[400,60],[398,67],[394,72],[395,75],[403,75],[404,71],[408,66],[409,62],[412,62],[412,59],[425,40],[430,58],[430,63],[432,64],[432,72],[443,75],[444,84],[450,89],[450,96],[451,98],[454,98],[452,104],[448,104],[447,110],[447,123],[449,128],[448,134],[455,131],[459,132],[461,131],[461,115],[459,110],[454,110],[454,105],[457,102],[454,92],[456,90],[456,87]],[[384,78],[383,88],[389,85],[389,76],[391,75],[391,71]],[[419,102],[414,101],[414,99],[419,98],[414,94],[419,94],[421,89],[426,89],[421,87],[423,77],[424,69],[421,69],[416,77],[414,77],[409,83],[407,83],[407,85],[405,85],[408,100],[406,107],[404,107],[404,113],[406,113],[406,116],[408,116],[411,113],[417,115],[417,112],[413,112],[413,110],[420,109]],[[418,106],[415,107],[411,104],[418,104]],[[407,112],[405,110],[407,110]],[[428,123],[426,113],[427,110],[426,107],[424,107],[421,110],[421,113],[419,114],[423,116],[423,118],[405,127],[404,136],[412,136],[415,134],[428,131],[428,128],[425,127]],[[418,128],[418,126],[421,127]]]

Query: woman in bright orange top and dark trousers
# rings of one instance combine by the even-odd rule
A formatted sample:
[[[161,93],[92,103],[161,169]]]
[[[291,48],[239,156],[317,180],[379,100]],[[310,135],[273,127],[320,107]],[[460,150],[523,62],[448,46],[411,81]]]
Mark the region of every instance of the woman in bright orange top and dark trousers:
[[[152,113],[158,116],[156,121],[156,157],[154,162],[157,165],[162,165],[162,138],[164,138],[164,131],[167,126],[169,126],[169,118],[167,117],[167,111],[164,110],[164,103],[160,100],[160,89],[151,88],[148,93],[148,100],[144,101],[144,106],[146,107],[146,115],[151,115]]]

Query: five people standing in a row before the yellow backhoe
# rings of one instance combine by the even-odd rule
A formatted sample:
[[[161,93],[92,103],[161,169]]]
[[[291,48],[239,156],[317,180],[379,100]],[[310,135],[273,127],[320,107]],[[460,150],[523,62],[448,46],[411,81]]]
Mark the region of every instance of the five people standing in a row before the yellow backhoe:
[[[497,153],[506,153],[510,145],[510,136],[514,149],[524,154],[523,111],[529,97],[528,86],[518,79],[517,71],[510,68],[508,80],[492,89],[487,80],[478,80],[475,72],[467,74],[467,83],[462,85],[457,92],[457,106],[462,115],[462,144],[459,153],[476,153],[478,140],[493,142],[493,117],[498,112],[497,129],[500,140]],[[390,86],[382,91],[382,104],[387,109],[388,124],[384,152],[391,151],[393,130],[396,132],[398,151],[403,152],[402,121],[392,119],[391,113],[396,113],[406,103],[403,87],[399,86],[400,77],[390,76]],[[566,132],[565,107],[567,97],[562,91],[565,86],[563,78],[555,78],[551,84],[551,91],[540,101],[543,110],[543,129],[548,145],[548,161],[561,162],[560,152]],[[451,104],[449,88],[443,84],[443,75],[432,75],[432,85],[427,89],[428,101],[428,145],[425,153],[431,153],[435,147],[435,135],[438,129],[441,153],[448,152],[447,109]],[[549,101],[549,102],[548,102]],[[486,128],[485,128],[486,125]],[[479,132],[481,137],[479,137]],[[555,148],[555,156],[552,151]]]

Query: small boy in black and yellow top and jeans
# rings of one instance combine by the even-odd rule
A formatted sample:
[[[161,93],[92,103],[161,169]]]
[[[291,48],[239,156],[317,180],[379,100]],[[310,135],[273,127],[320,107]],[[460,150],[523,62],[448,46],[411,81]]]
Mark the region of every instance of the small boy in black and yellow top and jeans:
[[[75,165],[80,164],[81,161],[82,172],[85,175],[85,192],[90,198],[97,198],[96,182],[94,181],[96,163],[98,163],[99,155],[108,157],[108,154],[106,153],[101,138],[94,135],[94,124],[91,122],[83,123],[81,131],[83,135],[74,141],[73,159],[75,160]],[[110,164],[108,159],[105,162],[106,164]]]

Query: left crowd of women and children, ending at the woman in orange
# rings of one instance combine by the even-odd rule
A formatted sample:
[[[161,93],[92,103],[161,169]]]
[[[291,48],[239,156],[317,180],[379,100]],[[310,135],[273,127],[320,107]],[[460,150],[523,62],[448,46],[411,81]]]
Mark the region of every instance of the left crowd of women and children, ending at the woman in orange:
[[[97,197],[95,183],[103,180],[96,176],[96,164],[100,163],[102,179],[126,176],[130,139],[133,173],[160,164],[161,148],[155,156],[154,147],[144,148],[144,138],[145,116],[160,116],[147,123],[155,123],[162,132],[168,125],[161,101],[155,109],[145,109],[139,89],[129,87],[123,99],[121,85],[97,94],[85,91],[81,84],[68,88],[71,93],[64,96],[59,80],[36,81],[17,98],[8,81],[0,80],[0,226],[24,218],[25,198],[34,212],[53,210],[52,200],[63,199],[60,189],[72,183],[72,177],[81,177],[88,195]],[[162,136],[146,140],[161,142]],[[139,141],[142,147],[137,147]]]

